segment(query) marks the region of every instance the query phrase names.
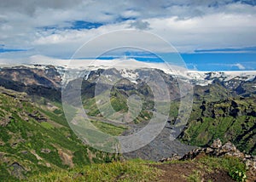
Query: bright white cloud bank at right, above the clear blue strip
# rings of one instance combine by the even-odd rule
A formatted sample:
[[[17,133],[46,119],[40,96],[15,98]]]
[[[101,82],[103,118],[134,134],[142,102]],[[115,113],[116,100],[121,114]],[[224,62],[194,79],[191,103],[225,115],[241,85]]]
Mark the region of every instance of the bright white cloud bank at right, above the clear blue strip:
[[[209,14],[188,20],[151,19],[151,30],[180,51],[207,48],[253,47],[256,14]]]

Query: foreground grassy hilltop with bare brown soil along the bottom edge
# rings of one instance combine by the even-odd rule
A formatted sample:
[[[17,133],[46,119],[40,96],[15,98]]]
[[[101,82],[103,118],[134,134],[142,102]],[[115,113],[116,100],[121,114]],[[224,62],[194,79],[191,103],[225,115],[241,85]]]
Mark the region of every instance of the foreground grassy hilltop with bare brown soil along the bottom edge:
[[[192,167],[192,168],[188,168]],[[165,168],[163,168],[165,167]],[[179,173],[176,173],[178,170]],[[56,170],[32,176],[29,181],[166,181],[169,179],[201,181],[205,176],[217,172],[225,173],[226,180],[241,179],[239,173],[246,174],[245,165],[233,157],[201,156],[193,161],[150,162],[130,160],[92,164],[72,170]],[[172,173],[175,172],[175,173]],[[238,173],[237,173],[238,172]],[[171,174],[171,175],[169,175]],[[209,179],[209,177],[208,177]],[[217,179],[218,180],[218,179]],[[237,180],[239,181],[239,180]]]

